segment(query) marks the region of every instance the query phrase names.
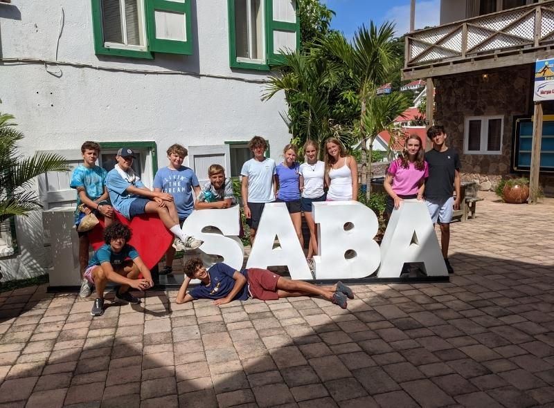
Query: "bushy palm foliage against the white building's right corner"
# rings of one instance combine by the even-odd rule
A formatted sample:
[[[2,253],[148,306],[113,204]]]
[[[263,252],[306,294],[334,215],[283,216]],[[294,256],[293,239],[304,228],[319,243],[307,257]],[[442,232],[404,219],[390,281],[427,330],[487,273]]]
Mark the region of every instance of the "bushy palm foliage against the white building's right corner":
[[[285,91],[287,113],[281,117],[292,133],[292,142],[302,145],[307,139],[321,142],[332,134],[330,91],[337,82],[340,66],[314,53],[286,53],[278,75],[269,77],[262,100]]]

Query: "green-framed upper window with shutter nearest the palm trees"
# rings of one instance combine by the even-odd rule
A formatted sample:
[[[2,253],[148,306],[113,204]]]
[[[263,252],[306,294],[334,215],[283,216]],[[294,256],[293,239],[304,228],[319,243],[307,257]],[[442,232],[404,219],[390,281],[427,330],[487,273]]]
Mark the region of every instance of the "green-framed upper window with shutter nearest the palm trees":
[[[269,70],[282,53],[298,49],[296,0],[228,0],[229,57],[233,68]]]

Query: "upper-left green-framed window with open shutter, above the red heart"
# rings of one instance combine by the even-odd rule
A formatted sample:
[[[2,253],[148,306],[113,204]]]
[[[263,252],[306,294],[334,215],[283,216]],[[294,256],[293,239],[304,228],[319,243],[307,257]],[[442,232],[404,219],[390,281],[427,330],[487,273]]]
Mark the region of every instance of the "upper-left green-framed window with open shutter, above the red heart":
[[[96,54],[192,54],[190,1],[91,0]]]

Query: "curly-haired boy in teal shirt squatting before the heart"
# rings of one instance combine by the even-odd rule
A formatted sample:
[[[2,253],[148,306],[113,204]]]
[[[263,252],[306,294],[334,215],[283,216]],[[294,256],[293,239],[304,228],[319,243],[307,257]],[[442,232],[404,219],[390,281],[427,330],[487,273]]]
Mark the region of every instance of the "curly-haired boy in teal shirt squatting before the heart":
[[[96,286],[96,300],[91,315],[104,313],[104,290],[108,281],[119,284],[116,287],[115,301],[126,304],[139,304],[129,293],[129,287],[146,290],[154,286],[150,270],[146,268],[139,252],[127,243],[131,239],[131,230],[122,223],[112,223],[104,230],[104,241],[84,271],[84,278]],[[130,259],[127,259],[130,258]],[[139,274],[143,275],[139,279]]]

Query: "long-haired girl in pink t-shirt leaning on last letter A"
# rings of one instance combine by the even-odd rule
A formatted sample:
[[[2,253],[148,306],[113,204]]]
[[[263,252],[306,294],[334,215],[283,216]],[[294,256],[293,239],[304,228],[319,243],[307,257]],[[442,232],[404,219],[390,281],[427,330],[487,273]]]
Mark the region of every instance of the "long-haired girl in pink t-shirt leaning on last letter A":
[[[417,198],[423,200],[425,178],[429,177],[429,169],[424,158],[421,138],[410,135],[404,143],[402,156],[388,166],[384,181],[388,193],[386,212],[390,216],[393,209],[398,210],[404,199]]]

